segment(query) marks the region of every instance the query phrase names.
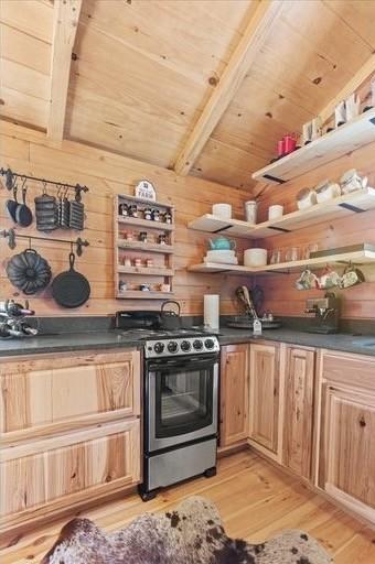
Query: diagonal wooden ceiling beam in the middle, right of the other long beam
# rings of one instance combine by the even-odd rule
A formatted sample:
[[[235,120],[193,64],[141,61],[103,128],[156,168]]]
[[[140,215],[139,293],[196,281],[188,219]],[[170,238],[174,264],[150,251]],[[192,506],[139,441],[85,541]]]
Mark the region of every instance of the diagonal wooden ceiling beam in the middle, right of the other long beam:
[[[233,100],[259,50],[269,36],[281,8],[282,2],[280,0],[259,0],[258,7],[233,52],[217,86],[175,160],[174,171],[178,174],[185,175],[193,166],[194,161]]]

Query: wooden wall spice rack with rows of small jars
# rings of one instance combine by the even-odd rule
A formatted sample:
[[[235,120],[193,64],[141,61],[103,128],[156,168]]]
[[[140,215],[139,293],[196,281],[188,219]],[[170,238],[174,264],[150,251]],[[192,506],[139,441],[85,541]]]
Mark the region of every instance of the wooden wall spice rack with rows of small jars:
[[[142,217],[127,217],[119,216],[120,204],[136,204],[139,214],[142,214],[144,208],[158,208],[161,213],[169,212],[172,216],[172,223],[167,224],[162,220],[153,221],[143,219]],[[160,202],[150,202],[136,198],[133,196],[117,195],[114,198],[114,281],[115,281],[115,297],[118,300],[167,300],[173,296],[172,281],[174,275],[173,270],[173,243],[174,243],[174,208],[169,204],[161,204]],[[153,238],[164,232],[167,236],[167,243],[159,243],[157,241],[143,242],[138,240],[127,240],[121,237],[125,227],[133,231],[147,231],[149,237],[150,231]],[[126,229],[125,229],[126,230]],[[129,258],[133,260],[136,257],[143,259],[141,267],[126,267],[124,265],[124,256],[129,253]],[[158,257],[157,263],[153,267],[146,267],[146,259],[150,254]],[[120,260],[122,257],[122,260]],[[163,264],[161,264],[161,257],[163,257]],[[120,292],[119,283],[121,280],[128,282],[128,290]],[[150,291],[140,290],[141,283],[149,283]],[[169,284],[171,291],[163,292],[157,290],[159,284]]]

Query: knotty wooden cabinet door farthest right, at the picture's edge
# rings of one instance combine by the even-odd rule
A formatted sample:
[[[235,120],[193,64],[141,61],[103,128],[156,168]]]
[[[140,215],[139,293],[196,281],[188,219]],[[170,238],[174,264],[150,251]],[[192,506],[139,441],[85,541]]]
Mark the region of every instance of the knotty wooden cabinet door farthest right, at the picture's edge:
[[[320,486],[375,522],[375,394],[328,386]]]

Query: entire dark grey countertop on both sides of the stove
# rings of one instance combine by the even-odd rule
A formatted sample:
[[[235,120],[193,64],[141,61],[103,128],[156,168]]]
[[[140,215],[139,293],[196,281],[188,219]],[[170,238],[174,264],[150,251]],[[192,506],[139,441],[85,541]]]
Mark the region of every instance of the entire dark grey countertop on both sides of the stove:
[[[248,329],[221,327],[218,339],[221,345],[248,343],[249,340],[275,340],[291,345],[375,356],[375,335],[319,335],[280,328],[266,329],[260,337],[254,337],[253,332]],[[366,347],[364,346],[365,343],[373,343],[374,346]],[[0,340],[0,357],[89,349],[136,348],[141,347],[141,345],[140,338],[135,338],[133,335],[127,337],[120,330],[61,333],[23,339]]]

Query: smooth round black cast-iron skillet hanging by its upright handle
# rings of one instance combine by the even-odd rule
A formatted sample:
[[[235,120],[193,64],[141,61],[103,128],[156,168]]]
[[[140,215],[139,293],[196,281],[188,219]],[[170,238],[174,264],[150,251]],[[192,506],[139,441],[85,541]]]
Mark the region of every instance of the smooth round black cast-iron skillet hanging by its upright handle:
[[[75,254],[69,253],[69,270],[58,274],[52,282],[52,295],[63,307],[79,307],[90,294],[88,280],[74,270]]]

